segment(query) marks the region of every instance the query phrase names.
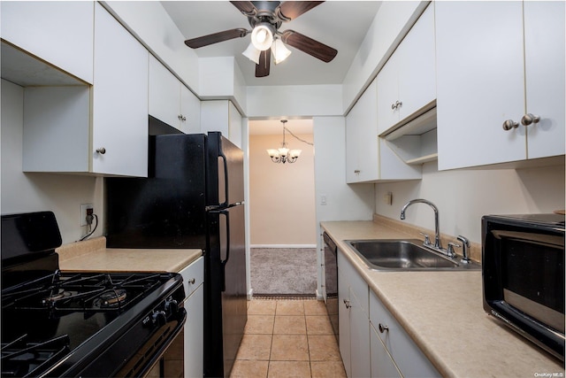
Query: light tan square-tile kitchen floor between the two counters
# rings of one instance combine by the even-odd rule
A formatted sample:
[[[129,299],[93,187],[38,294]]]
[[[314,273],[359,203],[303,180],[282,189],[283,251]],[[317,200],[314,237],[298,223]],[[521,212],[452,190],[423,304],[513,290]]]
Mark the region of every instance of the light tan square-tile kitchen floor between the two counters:
[[[249,301],[248,323],[231,377],[345,378],[325,303]]]

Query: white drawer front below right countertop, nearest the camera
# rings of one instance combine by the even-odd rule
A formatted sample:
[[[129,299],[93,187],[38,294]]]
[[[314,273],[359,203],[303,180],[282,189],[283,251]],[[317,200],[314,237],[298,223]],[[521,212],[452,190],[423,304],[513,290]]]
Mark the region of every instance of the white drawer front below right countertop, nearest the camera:
[[[373,291],[370,294],[370,321],[403,376],[440,376],[431,361],[424,356]],[[380,332],[379,324],[386,326],[388,330]]]

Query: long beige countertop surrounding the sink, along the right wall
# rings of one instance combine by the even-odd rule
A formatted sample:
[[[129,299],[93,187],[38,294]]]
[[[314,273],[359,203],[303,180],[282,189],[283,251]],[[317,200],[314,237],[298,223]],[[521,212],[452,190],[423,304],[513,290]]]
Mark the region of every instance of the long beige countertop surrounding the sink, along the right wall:
[[[376,272],[343,242],[422,239],[417,230],[382,217],[321,226],[443,376],[564,376],[562,361],[484,312],[481,271]]]

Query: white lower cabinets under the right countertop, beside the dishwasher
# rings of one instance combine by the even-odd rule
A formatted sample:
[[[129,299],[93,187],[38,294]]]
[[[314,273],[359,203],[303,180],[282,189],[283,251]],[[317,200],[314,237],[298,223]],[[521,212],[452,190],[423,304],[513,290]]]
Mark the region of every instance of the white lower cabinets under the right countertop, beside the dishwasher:
[[[340,250],[338,299],[340,355],[348,378],[440,376]]]

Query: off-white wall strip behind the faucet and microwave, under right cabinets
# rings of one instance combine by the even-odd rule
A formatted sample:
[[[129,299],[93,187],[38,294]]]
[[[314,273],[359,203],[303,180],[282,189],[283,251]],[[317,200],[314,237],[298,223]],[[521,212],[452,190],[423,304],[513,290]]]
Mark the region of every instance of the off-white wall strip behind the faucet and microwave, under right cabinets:
[[[387,192],[393,204],[384,204]],[[375,212],[399,220],[410,199],[424,198],[439,208],[440,232],[464,235],[481,243],[481,217],[486,214],[553,212],[564,206],[564,166],[528,169],[438,171],[436,162],[423,166],[423,179],[376,185]],[[413,204],[406,221],[434,229],[432,209]]]

